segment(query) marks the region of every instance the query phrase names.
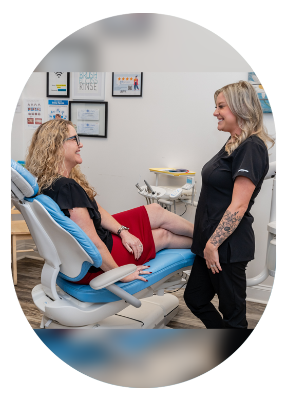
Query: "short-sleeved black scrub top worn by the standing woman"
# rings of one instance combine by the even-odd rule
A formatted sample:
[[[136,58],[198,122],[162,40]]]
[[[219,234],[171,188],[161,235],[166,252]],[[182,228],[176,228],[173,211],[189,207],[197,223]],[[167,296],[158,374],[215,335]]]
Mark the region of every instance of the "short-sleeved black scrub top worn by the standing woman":
[[[219,246],[218,254],[219,262],[227,263],[229,245],[230,262],[245,262],[254,259],[255,237],[252,229],[254,218],[250,209],[269,170],[268,151],[257,135],[248,137],[229,156],[225,151],[225,145],[202,168],[202,188],[196,209],[191,250],[203,257],[208,239],[215,232],[223,214],[231,204],[235,178],[243,175],[250,178],[256,188],[239,225]]]

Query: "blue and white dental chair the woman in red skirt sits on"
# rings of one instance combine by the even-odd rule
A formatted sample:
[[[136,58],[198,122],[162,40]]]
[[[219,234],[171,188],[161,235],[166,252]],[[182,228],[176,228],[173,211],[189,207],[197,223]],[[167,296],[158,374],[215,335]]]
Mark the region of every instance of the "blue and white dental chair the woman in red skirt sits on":
[[[166,328],[177,314],[179,300],[164,293],[187,283],[195,255],[190,249],[164,249],[149,262],[148,283],[120,280],[135,272],[125,265],[75,284],[102,257],[85,232],[46,195],[37,195],[36,178],[11,159],[11,199],[22,213],[35,251],[45,260],[41,284],[32,290],[43,314],[41,328]]]

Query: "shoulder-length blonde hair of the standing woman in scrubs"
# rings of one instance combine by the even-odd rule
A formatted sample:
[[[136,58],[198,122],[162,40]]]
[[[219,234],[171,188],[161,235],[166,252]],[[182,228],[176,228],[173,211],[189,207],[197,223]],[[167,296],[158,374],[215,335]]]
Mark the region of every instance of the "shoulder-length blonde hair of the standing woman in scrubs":
[[[215,92],[215,104],[219,93],[223,93],[226,103],[236,116],[238,126],[241,129],[241,135],[235,135],[233,141],[226,144],[225,151],[228,155],[252,134],[259,136],[267,149],[268,143],[271,143],[270,148],[272,148],[275,141],[263,125],[263,111],[253,85],[246,81],[226,85]]]

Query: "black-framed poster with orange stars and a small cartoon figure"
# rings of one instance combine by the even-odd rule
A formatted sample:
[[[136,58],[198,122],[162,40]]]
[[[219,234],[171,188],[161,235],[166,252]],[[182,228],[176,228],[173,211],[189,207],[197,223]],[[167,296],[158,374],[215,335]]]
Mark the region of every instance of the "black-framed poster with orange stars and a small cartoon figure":
[[[112,96],[142,96],[142,72],[113,72]]]

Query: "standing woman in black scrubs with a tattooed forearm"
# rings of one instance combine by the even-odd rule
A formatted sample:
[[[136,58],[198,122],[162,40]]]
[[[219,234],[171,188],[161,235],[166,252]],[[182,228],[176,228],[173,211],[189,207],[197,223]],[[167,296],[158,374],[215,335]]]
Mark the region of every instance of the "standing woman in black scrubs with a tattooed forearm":
[[[214,95],[218,130],[231,136],[203,166],[192,252],[196,254],[184,300],[206,328],[243,328],[246,320],[247,263],[254,259],[250,209],[269,169],[267,143],[254,87],[245,81]],[[211,303],[219,298],[219,311]]]

